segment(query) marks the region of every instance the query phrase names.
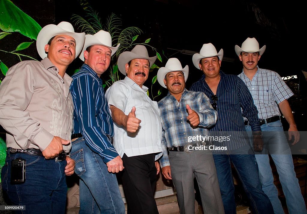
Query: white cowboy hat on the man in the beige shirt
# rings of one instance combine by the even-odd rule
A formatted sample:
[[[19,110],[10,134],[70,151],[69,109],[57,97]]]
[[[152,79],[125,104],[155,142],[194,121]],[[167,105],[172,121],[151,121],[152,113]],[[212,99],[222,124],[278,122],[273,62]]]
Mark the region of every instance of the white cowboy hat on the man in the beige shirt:
[[[58,25],[46,25],[38,33],[36,40],[36,48],[40,57],[42,59],[47,57],[47,54],[45,52],[45,45],[48,44],[49,40],[53,36],[56,35],[68,35],[76,40],[76,59],[82,50],[85,33],[75,33],[72,24],[66,21],[62,21]]]

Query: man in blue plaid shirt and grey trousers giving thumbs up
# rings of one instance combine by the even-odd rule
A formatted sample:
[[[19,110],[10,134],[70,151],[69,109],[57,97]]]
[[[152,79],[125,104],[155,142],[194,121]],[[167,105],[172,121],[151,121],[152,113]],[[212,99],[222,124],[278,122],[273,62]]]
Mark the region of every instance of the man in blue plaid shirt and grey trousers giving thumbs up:
[[[217,113],[204,93],[185,89],[188,72],[187,65],[182,68],[177,58],[170,58],[157,74],[160,85],[169,90],[158,102],[162,116],[162,174],[173,180],[181,214],[195,211],[194,177],[204,212],[224,213],[212,151],[204,141],[190,140],[193,136],[207,136],[205,128],[216,123]],[[202,149],[194,151],[193,147]]]

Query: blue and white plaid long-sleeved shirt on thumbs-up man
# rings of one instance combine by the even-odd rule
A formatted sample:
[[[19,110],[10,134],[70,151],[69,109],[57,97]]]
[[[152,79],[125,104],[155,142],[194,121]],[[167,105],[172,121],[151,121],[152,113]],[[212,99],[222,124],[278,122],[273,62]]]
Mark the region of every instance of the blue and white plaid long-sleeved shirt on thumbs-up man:
[[[199,115],[200,124],[198,128],[192,128],[188,123],[188,112],[186,105]],[[216,123],[217,113],[212,109],[209,98],[201,92],[184,90],[180,102],[167,94],[158,102],[162,117],[162,149],[163,156],[160,159],[161,167],[169,166],[169,158],[166,147],[185,146],[191,136],[206,136],[208,130]],[[206,127],[206,128],[204,128]],[[196,142],[193,142],[196,143]]]

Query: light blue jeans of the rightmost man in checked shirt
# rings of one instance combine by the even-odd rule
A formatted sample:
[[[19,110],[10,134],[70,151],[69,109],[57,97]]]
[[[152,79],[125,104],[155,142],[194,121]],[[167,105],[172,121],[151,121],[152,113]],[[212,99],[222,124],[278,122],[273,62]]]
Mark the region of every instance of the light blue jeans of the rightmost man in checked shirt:
[[[251,136],[251,127],[246,126],[245,128],[249,136]],[[272,149],[273,145],[273,153],[277,153],[277,155],[271,154],[271,157],[275,163],[279,175],[279,181],[282,184],[282,190],[286,197],[289,213],[307,213],[305,202],[301,194],[301,188],[298,184],[296,173],[294,171],[293,158],[291,155],[290,147],[283,132],[281,121],[278,120],[276,122],[263,124],[261,125],[261,129],[264,146],[267,147],[268,152],[270,152],[270,149]],[[283,155],[280,155],[280,153]],[[264,193],[266,193],[266,195],[270,198],[274,208],[274,213],[284,213],[282,204],[278,199],[277,188],[274,185],[274,178],[270,166],[269,156],[255,155],[255,157],[258,163],[259,177],[262,183],[262,189]]]

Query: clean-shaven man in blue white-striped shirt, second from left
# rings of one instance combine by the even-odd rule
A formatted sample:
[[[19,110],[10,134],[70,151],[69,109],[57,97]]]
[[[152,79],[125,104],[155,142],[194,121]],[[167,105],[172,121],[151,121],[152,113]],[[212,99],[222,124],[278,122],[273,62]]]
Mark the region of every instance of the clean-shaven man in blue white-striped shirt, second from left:
[[[85,36],[80,71],[72,76],[74,103],[72,154],[80,177],[80,214],[125,213],[115,173],[123,170],[122,159],[112,145],[113,121],[100,76],[107,70],[112,47],[109,32]]]

